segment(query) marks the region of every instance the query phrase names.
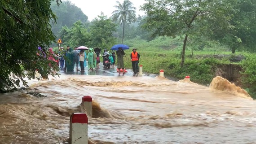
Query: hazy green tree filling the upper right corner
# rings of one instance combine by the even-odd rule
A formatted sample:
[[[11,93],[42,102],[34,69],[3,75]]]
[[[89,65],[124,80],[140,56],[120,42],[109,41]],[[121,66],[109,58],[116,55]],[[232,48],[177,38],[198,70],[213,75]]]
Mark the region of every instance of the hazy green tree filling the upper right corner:
[[[237,9],[231,13],[232,29],[215,29],[212,37],[226,44],[234,54],[237,48],[246,48],[255,52],[256,44],[256,0],[237,0]]]

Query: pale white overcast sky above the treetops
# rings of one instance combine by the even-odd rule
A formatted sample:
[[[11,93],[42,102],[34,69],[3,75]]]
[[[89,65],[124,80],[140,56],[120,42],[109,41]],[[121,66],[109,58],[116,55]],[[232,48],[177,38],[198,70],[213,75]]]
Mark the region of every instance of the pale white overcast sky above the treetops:
[[[70,0],[71,3],[75,4],[77,7],[82,9],[85,15],[88,16],[88,20],[92,21],[95,17],[104,13],[104,15],[110,17],[112,12],[116,10],[114,8],[117,5],[116,1],[121,4],[124,0]],[[140,6],[143,5],[145,0],[130,0],[134,7],[136,7],[137,16],[145,15],[144,12],[140,11]]]

